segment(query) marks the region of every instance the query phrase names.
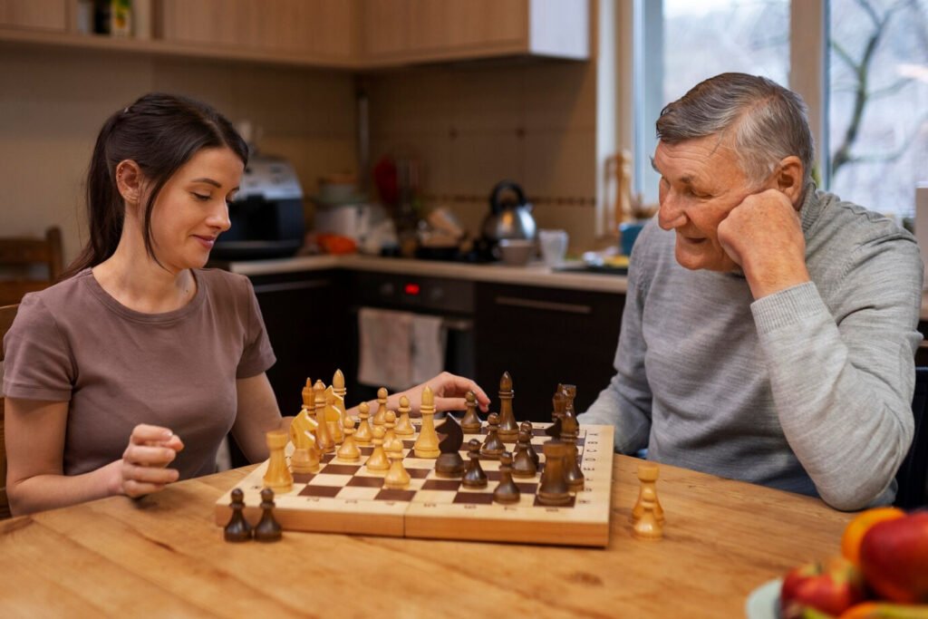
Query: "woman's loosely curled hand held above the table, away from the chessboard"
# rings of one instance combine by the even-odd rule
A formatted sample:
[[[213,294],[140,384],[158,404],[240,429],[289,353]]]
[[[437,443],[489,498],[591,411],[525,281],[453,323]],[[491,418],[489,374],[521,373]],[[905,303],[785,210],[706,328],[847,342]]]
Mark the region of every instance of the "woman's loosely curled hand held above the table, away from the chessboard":
[[[145,423],[135,426],[122,460],[113,463],[118,471],[116,494],[150,495],[176,482],[180,473],[167,466],[183,448],[184,443],[168,428]]]

